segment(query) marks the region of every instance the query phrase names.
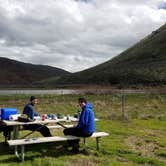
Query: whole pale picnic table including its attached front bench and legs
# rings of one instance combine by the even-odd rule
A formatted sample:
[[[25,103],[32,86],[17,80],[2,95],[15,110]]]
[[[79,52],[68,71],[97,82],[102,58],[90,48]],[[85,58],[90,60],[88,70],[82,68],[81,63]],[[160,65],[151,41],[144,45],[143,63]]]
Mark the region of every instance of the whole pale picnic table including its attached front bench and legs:
[[[95,119],[97,121],[98,119]],[[29,139],[18,139],[20,126],[31,125],[31,124],[58,124],[58,122],[77,122],[78,119],[74,117],[67,117],[61,119],[45,119],[45,120],[35,120],[33,122],[19,122],[19,121],[10,121],[10,120],[2,120],[4,125],[13,126],[13,140],[9,140],[9,146],[14,146],[14,153],[18,159],[24,161],[25,156],[25,145],[30,144],[38,144],[38,143],[48,143],[48,142],[57,142],[57,141],[68,141],[68,140],[76,140],[76,139],[84,139],[84,145],[86,147],[86,138],[85,137],[76,137],[76,136],[52,136],[52,137],[38,137],[38,138],[29,138]],[[59,125],[59,124],[58,124]],[[67,125],[65,125],[67,126]],[[31,133],[30,133],[31,134]],[[108,136],[109,133],[106,132],[95,132],[91,136],[91,138],[96,138],[96,149],[99,150],[99,139],[104,136]],[[19,149],[20,147],[20,153]]]

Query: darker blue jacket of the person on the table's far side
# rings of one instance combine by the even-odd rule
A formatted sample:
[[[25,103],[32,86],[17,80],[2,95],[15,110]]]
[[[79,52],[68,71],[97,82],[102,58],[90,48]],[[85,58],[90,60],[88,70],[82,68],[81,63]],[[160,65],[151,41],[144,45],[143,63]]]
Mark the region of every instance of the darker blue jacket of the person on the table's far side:
[[[31,103],[28,103],[25,105],[24,110],[23,110],[23,114],[27,114],[28,117],[32,120],[34,120],[34,116],[39,116],[39,114],[37,112],[35,112]]]

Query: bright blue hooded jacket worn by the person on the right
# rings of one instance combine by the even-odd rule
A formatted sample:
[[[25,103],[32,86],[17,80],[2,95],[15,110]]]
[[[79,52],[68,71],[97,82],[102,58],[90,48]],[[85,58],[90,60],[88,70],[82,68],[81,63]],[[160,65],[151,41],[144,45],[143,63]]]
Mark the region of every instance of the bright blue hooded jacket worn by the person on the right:
[[[94,113],[90,103],[86,103],[82,108],[77,128],[82,129],[82,131],[87,134],[91,134],[95,131]]]

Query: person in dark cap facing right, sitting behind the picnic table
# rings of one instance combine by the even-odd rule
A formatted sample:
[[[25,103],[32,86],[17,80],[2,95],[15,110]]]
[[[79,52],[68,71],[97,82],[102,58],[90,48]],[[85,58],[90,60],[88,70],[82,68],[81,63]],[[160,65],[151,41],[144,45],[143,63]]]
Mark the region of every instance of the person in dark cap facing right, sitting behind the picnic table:
[[[34,120],[35,116],[39,116],[39,114],[34,110],[34,106],[36,104],[37,104],[37,98],[35,96],[31,96],[30,103],[26,104],[23,109],[23,114],[26,114],[31,120]],[[44,137],[52,136],[49,128],[42,124],[24,125],[24,129],[31,131],[39,131]]]

